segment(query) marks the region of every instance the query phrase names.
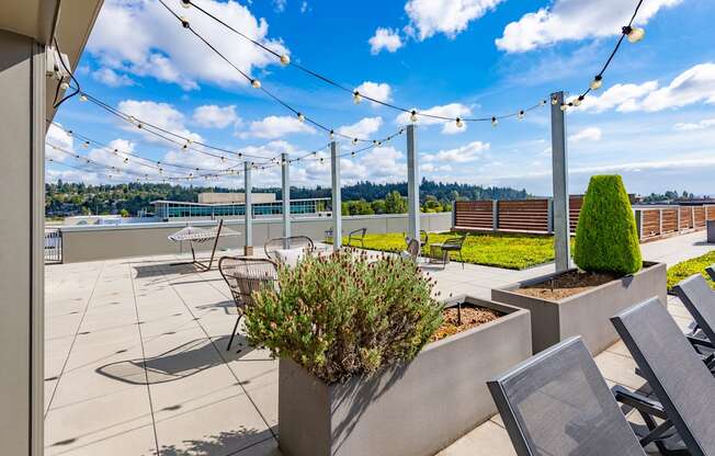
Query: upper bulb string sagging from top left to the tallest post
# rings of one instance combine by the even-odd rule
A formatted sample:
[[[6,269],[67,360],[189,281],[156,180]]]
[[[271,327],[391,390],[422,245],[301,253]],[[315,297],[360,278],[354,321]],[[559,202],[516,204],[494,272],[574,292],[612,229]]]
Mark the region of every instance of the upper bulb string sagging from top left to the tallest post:
[[[163,0],[159,0],[159,1],[161,1],[161,3],[163,4]],[[287,55],[281,55],[281,54],[276,53],[275,50],[273,50],[273,49],[269,48],[268,46],[265,46],[263,43],[261,43],[259,41],[256,41],[256,39],[251,38],[250,36],[246,35],[245,33],[236,30],[234,26],[226,23],[224,20],[222,20],[220,18],[218,18],[215,14],[211,13],[209,11],[206,11],[204,8],[196,4],[192,0],[180,0],[180,2],[185,8],[194,7],[197,11],[200,11],[201,13],[206,15],[207,18],[211,18],[212,20],[214,20],[218,24],[223,25],[224,27],[228,29],[229,31],[234,32],[235,34],[237,34],[241,38],[252,43],[253,45],[260,47],[261,49],[265,50],[266,53],[273,55],[274,57],[276,57],[281,61],[281,64],[283,64],[285,66],[294,67],[294,68],[296,68],[296,69],[298,69],[298,70],[300,70],[303,72],[306,72],[306,73],[308,73],[308,75],[310,75],[310,76],[313,76],[313,77],[315,77],[315,78],[317,78],[317,79],[319,79],[319,80],[334,87],[334,88],[338,88],[338,89],[340,89],[340,90],[342,90],[344,92],[351,93],[353,95],[353,100],[356,103],[359,103],[361,99],[365,99],[365,100],[368,100],[368,101],[371,101],[373,103],[379,104],[382,106],[389,107],[389,109],[393,109],[395,111],[399,111],[399,112],[402,112],[402,113],[408,113],[413,118],[419,116],[419,117],[427,117],[427,118],[433,118],[433,119],[439,119],[439,121],[449,121],[449,122],[455,122],[456,121],[457,124],[461,123],[461,122],[491,122],[491,123],[495,123],[495,121],[500,121],[500,119],[510,118],[510,117],[519,117],[519,118],[521,118],[521,117],[524,116],[525,113],[527,113],[530,111],[533,111],[533,110],[546,104],[545,100],[540,100],[534,105],[529,106],[529,107],[523,109],[523,110],[519,110],[519,111],[513,112],[513,113],[492,115],[492,116],[486,116],[486,117],[447,117],[447,116],[443,116],[443,115],[436,115],[436,114],[430,114],[430,113],[427,113],[427,112],[420,112],[420,111],[418,111],[416,109],[407,109],[407,107],[398,106],[398,105],[396,105],[394,103],[389,103],[389,102],[386,102],[386,101],[383,101],[383,100],[375,99],[375,98],[370,96],[370,95],[367,95],[365,93],[360,93],[358,90],[350,89],[350,88],[341,84],[340,82],[337,82],[336,80],[333,80],[331,78],[328,78],[327,76],[320,75],[319,72],[314,71],[314,70],[311,70],[309,68],[306,68],[300,64],[294,62],[293,60],[290,59],[290,57]],[[169,11],[171,11],[169,9],[169,7],[167,7],[166,4],[164,4],[164,8],[167,8]],[[172,13],[173,13],[173,11],[172,11]],[[180,21],[182,21],[182,24],[184,23],[184,21],[181,20],[180,16],[178,16],[175,13],[173,13],[173,14]],[[241,71],[241,73],[243,73],[243,72]],[[251,81],[251,82],[253,81],[253,79],[246,76],[245,73],[243,73],[243,76],[249,81]],[[280,100],[276,100],[276,101],[281,102]],[[290,106],[286,106],[286,107],[291,109]],[[291,110],[294,111],[293,109],[291,109]]]

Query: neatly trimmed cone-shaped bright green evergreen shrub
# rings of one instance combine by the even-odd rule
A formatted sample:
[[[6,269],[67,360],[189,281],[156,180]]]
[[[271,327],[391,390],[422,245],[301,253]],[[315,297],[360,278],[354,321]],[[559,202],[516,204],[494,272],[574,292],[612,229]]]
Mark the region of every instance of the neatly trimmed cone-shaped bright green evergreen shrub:
[[[574,261],[583,271],[627,275],[643,266],[636,220],[620,175],[594,175],[576,228]]]

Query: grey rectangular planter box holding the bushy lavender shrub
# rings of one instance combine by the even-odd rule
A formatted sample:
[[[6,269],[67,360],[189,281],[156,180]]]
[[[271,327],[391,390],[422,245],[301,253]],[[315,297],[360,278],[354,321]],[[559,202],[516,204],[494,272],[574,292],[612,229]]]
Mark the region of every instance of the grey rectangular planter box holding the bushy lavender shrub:
[[[428,344],[409,365],[345,384],[326,385],[282,358],[282,454],[434,455],[495,414],[486,381],[531,355],[529,312],[472,297],[461,299],[506,315]]]

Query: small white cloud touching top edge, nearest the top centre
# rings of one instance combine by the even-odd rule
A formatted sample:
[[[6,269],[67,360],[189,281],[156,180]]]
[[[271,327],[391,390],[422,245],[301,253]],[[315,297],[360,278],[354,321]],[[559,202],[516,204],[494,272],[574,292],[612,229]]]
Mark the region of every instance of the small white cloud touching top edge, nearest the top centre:
[[[436,33],[453,38],[464,32],[469,22],[495,9],[502,0],[409,0],[405,12],[410,18],[409,30],[416,30],[423,41]]]

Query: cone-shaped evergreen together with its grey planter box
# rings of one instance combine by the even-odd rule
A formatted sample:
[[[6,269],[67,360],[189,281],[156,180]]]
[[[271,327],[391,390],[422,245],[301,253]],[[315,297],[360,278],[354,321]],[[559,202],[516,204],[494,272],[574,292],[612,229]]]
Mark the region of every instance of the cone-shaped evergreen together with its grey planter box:
[[[531,310],[534,353],[580,334],[594,355],[618,337],[610,318],[645,299],[667,300],[666,264],[644,262],[620,175],[594,175],[576,228],[578,269],[491,290],[492,300]]]

